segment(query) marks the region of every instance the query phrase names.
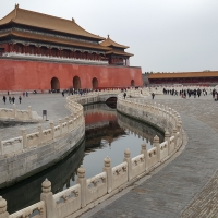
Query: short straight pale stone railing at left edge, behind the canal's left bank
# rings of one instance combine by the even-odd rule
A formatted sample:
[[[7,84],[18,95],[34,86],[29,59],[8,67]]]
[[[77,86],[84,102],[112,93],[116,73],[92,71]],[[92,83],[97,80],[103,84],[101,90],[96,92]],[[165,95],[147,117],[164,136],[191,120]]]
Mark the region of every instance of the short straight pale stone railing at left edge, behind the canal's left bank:
[[[31,106],[28,106],[28,110],[17,110],[14,104],[13,109],[0,108],[0,120],[37,121],[41,120],[41,117],[32,111]]]

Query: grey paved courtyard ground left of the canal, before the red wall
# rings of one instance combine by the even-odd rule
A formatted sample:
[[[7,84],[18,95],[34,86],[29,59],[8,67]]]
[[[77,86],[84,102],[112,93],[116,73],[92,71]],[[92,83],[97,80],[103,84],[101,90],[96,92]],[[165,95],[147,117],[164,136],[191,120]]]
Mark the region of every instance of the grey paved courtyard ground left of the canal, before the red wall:
[[[22,96],[22,102],[19,104],[19,95],[14,95],[15,105],[19,110],[27,110],[28,106],[32,106],[32,110],[36,111],[39,116],[43,116],[43,110],[47,110],[49,121],[53,121],[55,124],[58,123],[58,119],[64,119],[70,116],[71,112],[64,107],[65,97],[61,94],[29,94],[28,97]],[[0,96],[0,108],[13,108],[12,104],[9,104],[7,96],[7,104],[3,104],[2,96]],[[40,121],[43,129],[49,128],[49,121]],[[21,135],[21,129],[25,128],[27,133],[37,132],[38,123],[29,123],[15,125],[11,128],[0,129],[0,138],[9,140],[11,137],[16,137]]]

